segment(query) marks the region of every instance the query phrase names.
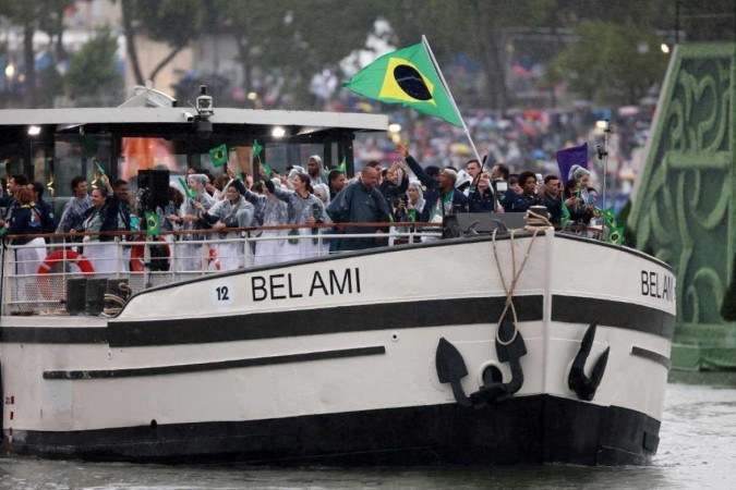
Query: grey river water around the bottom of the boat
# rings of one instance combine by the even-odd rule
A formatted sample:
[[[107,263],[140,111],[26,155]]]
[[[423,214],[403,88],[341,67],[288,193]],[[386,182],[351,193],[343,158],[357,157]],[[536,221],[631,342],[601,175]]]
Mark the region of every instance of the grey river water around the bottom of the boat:
[[[10,489],[736,488],[736,375],[668,384],[660,450],[644,467],[273,469],[0,458]]]

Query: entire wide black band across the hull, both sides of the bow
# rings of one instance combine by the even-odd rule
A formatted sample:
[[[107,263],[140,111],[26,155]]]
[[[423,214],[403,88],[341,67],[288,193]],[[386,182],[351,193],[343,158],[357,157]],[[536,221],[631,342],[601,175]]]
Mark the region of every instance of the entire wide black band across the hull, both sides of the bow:
[[[4,343],[106,343],[112,347],[178,345],[277,339],[297,335],[447,327],[495,322],[503,297],[350,305],[231,317],[113,321],[105,328],[2,328]],[[514,299],[520,321],[542,320],[543,296]],[[590,323],[651,333],[672,340],[675,317],[640,305],[554,295],[552,321]]]

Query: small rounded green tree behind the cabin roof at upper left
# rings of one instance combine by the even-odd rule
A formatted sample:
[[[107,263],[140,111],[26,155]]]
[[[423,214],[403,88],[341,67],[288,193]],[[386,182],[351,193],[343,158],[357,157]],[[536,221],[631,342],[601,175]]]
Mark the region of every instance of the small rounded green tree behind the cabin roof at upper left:
[[[122,99],[123,79],[116,66],[117,50],[114,34],[105,27],[71,56],[64,82],[76,106],[110,106]]]

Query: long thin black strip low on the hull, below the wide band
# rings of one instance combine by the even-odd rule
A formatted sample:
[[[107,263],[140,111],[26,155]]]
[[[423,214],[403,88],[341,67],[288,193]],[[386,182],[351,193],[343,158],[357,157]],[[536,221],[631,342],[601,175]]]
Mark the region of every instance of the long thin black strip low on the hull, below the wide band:
[[[283,356],[253,357],[249,359],[221,360],[217,363],[182,364],[174,366],[156,366],[129,369],[100,369],[88,371],[44,371],[44,379],[106,379],[132,378],[138,376],[179,375],[184,372],[215,371],[220,369],[237,369],[255,366],[273,366],[276,364],[306,363],[310,360],[343,359],[346,357],[375,356],[386,354],[383,345],[372,347],[342,348],[336,351],[309,352]]]

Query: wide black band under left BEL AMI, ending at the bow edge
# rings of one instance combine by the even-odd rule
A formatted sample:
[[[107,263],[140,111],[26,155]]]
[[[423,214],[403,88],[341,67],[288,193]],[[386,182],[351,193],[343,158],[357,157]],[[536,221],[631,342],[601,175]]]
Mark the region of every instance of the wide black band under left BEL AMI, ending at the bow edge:
[[[198,344],[495,321],[504,297],[363,304],[216,318],[113,321],[111,347]],[[514,298],[520,321],[542,319],[543,296]]]

